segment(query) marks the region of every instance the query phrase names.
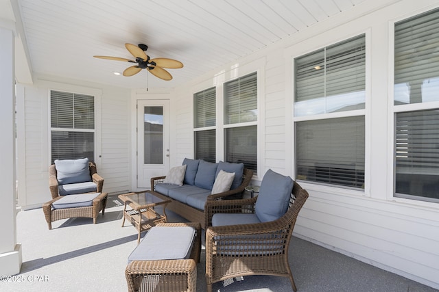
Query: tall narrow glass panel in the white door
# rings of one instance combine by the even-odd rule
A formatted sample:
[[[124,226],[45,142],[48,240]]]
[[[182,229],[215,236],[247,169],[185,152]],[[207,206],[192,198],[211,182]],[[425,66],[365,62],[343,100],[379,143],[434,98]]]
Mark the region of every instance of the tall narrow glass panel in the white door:
[[[163,164],[163,107],[145,107],[145,164]]]

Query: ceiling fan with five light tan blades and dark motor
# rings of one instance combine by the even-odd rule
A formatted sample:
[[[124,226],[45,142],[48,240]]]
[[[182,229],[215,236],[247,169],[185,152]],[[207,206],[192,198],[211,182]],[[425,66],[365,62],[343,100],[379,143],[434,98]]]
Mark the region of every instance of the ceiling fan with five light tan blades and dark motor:
[[[172,79],[172,75],[163,68],[178,69],[182,68],[183,64],[175,59],[168,58],[154,58],[150,59],[150,56],[146,55],[145,51],[148,49],[146,44],[139,44],[136,46],[134,44],[125,44],[126,49],[133,55],[136,59],[135,61],[131,59],[121,58],[121,57],[110,57],[110,56],[93,56],[99,59],[112,59],[115,61],[123,61],[130,63],[137,63],[137,65],[130,66],[123,71],[123,76],[132,76],[139,73],[142,69],[147,69],[152,75],[160,79],[169,81]]]

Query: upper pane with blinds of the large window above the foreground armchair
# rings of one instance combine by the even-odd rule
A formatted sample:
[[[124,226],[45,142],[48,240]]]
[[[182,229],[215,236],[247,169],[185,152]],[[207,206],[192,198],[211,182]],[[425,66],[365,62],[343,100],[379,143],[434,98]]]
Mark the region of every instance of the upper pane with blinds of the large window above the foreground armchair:
[[[364,109],[366,36],[294,59],[294,116]]]

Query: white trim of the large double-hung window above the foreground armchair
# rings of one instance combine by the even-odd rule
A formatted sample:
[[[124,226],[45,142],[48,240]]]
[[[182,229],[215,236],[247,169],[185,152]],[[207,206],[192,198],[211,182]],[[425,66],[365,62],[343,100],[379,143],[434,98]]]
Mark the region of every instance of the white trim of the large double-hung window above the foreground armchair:
[[[365,91],[366,91],[366,98],[365,98],[365,108],[364,109],[357,109],[354,111],[346,111],[346,112],[337,112],[337,113],[328,113],[328,114],[320,114],[316,116],[294,116],[294,58],[300,57],[302,55],[306,55],[307,53],[311,53],[313,51],[316,51],[318,49],[322,49],[323,47],[329,47],[333,44],[337,44],[338,42],[342,42],[343,40],[348,40],[349,38],[354,38],[355,36],[359,36],[361,34],[365,35],[365,42],[366,42],[366,85],[365,85]],[[371,72],[371,30],[370,29],[364,29],[361,31],[353,31],[351,34],[344,34],[343,36],[339,36],[337,39],[331,39],[329,42],[324,42],[324,40],[321,40],[320,36],[315,36],[313,38],[308,39],[309,42],[312,42],[312,46],[309,46],[307,44],[296,44],[293,47],[290,47],[285,50],[285,59],[287,59],[287,65],[285,66],[285,70],[287,72],[285,73],[285,84],[286,84],[286,94],[289,96],[289,98],[285,98],[286,105],[285,109],[287,111],[285,122],[287,123],[287,132],[289,133],[290,139],[287,141],[290,141],[290,143],[287,143],[287,149],[286,149],[286,161],[289,161],[287,163],[287,170],[289,170],[289,173],[292,174],[292,178],[296,178],[296,148],[295,148],[295,127],[294,124],[296,122],[304,121],[304,120],[320,120],[324,118],[343,118],[347,116],[364,116],[364,122],[365,122],[365,145],[364,145],[364,189],[347,189],[344,187],[337,187],[333,185],[318,185],[315,183],[311,183],[308,181],[300,181],[300,184],[303,185],[306,189],[309,189],[310,191],[319,191],[324,193],[331,193],[331,194],[339,194],[339,195],[348,195],[348,196],[366,196],[370,197],[370,163],[371,163],[371,155],[370,155],[370,119],[371,119],[371,109],[370,109],[370,99],[371,99],[371,92],[370,92],[370,72]],[[328,34],[329,35],[329,34]],[[294,47],[299,47],[298,50],[295,50]],[[300,49],[302,46],[306,47],[307,49]]]

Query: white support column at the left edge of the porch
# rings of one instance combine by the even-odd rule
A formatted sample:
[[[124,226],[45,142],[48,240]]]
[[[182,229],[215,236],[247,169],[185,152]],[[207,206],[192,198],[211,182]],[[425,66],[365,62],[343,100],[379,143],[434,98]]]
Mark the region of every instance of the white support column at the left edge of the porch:
[[[14,32],[0,27],[0,276],[20,272],[16,243]]]

